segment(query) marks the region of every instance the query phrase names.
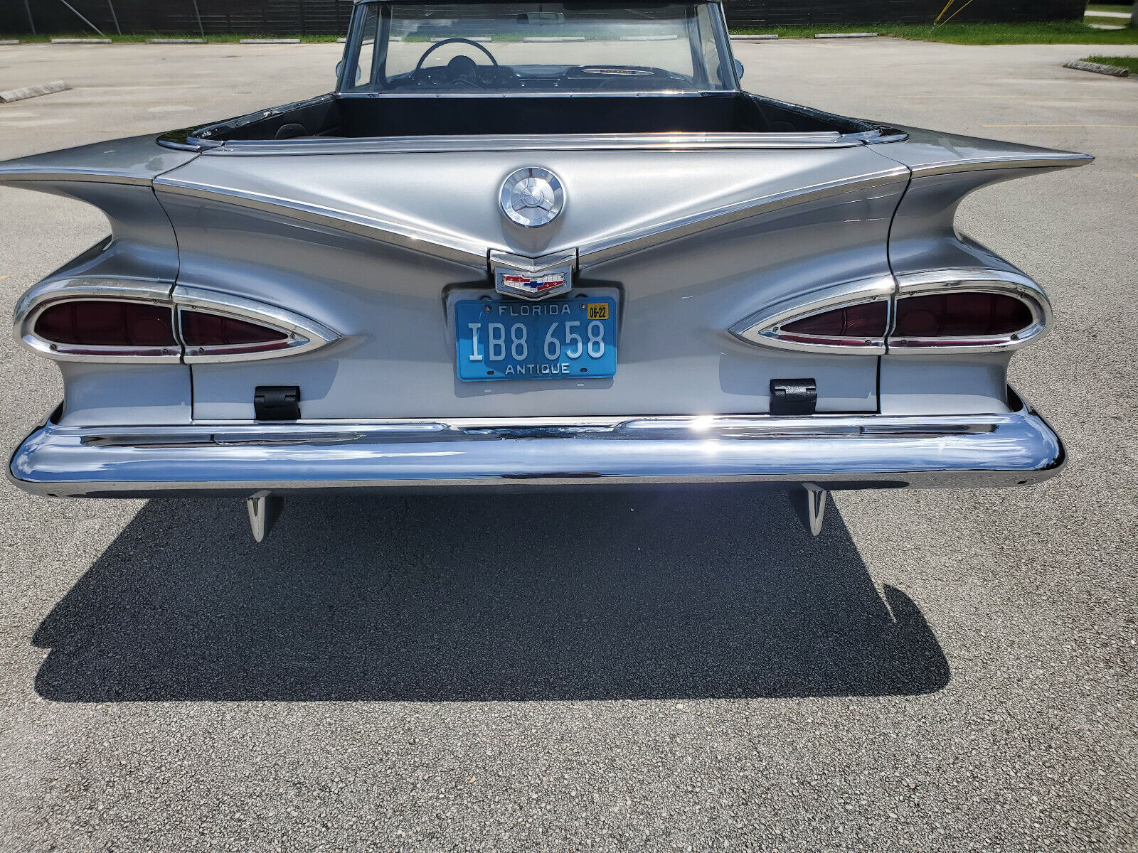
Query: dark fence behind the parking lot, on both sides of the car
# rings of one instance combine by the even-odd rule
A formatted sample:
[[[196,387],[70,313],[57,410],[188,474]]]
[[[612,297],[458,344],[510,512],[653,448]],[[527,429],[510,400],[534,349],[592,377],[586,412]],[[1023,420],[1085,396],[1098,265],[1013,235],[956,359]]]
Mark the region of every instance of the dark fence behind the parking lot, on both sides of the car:
[[[945,0],[724,0],[732,26],[932,23]],[[1085,0],[956,0],[954,22],[1081,19]],[[950,9],[951,11],[951,9]],[[352,0],[0,0],[0,33],[343,35]]]

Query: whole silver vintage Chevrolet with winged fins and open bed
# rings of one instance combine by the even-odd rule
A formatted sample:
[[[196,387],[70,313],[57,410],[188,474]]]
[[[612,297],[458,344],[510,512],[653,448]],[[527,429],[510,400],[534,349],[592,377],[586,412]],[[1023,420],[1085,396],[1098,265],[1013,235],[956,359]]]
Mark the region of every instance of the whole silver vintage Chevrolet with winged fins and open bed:
[[[357,2],[336,90],[0,164],[112,235],[20,299],[39,495],[1033,483],[1042,289],[973,190],[1091,158],[750,94],[718,2]]]

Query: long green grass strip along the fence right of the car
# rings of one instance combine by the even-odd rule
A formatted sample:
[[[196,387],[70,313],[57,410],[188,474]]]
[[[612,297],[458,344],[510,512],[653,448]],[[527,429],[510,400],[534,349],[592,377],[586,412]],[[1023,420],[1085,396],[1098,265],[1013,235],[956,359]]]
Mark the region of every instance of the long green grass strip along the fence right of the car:
[[[1138,30],[1095,30],[1086,24],[846,24],[732,30],[733,33],[777,33],[780,39],[813,39],[815,33],[879,33],[897,39],[951,44],[1138,44]]]

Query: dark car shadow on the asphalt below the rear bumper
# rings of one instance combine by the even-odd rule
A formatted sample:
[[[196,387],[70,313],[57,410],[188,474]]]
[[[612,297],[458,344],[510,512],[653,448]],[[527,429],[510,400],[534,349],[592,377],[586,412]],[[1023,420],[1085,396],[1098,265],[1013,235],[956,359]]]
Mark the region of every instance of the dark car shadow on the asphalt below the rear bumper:
[[[61,702],[901,695],[949,669],[833,504],[744,488],[150,500],[39,627]]]

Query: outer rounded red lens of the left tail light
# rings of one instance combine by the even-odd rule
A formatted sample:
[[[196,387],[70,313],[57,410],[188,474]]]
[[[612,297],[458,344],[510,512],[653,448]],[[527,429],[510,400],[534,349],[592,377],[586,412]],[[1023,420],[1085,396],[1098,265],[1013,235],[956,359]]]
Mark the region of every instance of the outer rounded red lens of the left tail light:
[[[46,308],[35,334],[53,343],[89,347],[173,347],[168,306],[146,303],[74,299]]]

